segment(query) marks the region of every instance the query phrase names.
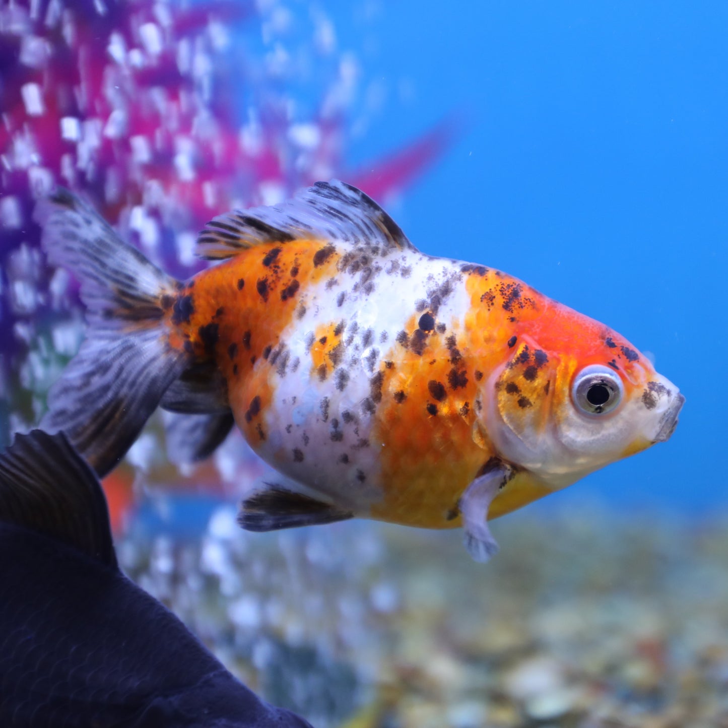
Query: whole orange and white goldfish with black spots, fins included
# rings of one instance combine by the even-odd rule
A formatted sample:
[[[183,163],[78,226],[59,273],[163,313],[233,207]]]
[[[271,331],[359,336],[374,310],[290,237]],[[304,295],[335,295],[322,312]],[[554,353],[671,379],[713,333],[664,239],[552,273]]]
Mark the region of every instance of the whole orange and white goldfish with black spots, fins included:
[[[196,456],[234,422],[280,473],[242,504],[252,531],[463,526],[484,561],[488,518],[667,440],[684,402],[606,325],[420,253],[341,182],[214,218],[198,252],[221,262],[186,282],[66,191],[39,218],[89,321],[42,426],[103,475],[157,406]]]

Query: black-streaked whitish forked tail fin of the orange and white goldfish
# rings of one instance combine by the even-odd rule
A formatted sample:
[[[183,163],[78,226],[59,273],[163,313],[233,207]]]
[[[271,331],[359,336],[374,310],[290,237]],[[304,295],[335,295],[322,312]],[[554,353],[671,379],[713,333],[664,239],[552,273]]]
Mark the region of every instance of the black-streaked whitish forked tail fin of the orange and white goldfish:
[[[50,389],[41,427],[66,432],[103,476],[190,364],[191,355],[170,345],[164,320],[163,301],[178,284],[68,190],[39,202],[35,218],[50,262],[81,282],[89,323],[79,353]]]

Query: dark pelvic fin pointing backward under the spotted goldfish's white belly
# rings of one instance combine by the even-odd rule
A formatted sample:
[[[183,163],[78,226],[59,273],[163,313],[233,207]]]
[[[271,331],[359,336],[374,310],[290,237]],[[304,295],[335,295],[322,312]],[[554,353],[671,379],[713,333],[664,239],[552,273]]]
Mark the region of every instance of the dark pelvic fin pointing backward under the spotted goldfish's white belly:
[[[298,526],[317,526],[354,518],[352,511],[325,503],[302,493],[266,483],[269,489],[256,491],[242,502],[237,522],[246,531],[278,531]]]

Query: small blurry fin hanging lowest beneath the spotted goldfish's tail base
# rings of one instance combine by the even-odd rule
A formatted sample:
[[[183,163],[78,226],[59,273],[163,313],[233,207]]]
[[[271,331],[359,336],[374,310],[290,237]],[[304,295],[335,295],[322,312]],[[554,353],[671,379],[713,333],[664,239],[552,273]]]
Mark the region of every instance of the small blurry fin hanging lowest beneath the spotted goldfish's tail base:
[[[235,421],[231,411],[215,414],[176,414],[165,416],[167,456],[174,463],[204,460],[229,435]]]

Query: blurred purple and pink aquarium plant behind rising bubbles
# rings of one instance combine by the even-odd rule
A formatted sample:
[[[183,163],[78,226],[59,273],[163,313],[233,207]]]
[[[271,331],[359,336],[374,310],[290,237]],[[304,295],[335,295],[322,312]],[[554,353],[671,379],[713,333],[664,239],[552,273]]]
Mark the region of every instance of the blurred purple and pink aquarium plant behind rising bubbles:
[[[76,284],[47,269],[32,221],[56,184],[185,278],[218,213],[332,177],[381,199],[438,156],[447,124],[347,169],[357,64],[320,10],[307,20],[293,53],[282,2],[0,0],[0,442],[37,421],[82,338]],[[301,58],[326,79],[305,110]]]

